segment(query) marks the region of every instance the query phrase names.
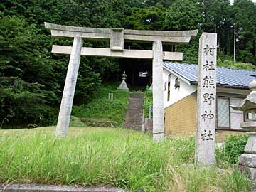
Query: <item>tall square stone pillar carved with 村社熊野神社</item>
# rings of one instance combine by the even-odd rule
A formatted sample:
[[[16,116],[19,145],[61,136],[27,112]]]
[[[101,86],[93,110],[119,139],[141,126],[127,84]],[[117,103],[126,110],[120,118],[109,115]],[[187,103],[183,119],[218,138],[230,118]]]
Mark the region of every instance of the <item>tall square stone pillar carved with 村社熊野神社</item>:
[[[199,40],[196,164],[215,160],[217,34],[203,33]]]

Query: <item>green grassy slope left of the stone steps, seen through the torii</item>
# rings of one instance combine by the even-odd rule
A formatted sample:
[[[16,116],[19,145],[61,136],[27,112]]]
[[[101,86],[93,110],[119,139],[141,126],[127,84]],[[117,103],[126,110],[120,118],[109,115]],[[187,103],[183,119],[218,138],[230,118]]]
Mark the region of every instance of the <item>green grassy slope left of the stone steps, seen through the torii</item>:
[[[119,82],[101,85],[94,93],[94,99],[74,106],[72,114],[75,117],[110,119],[121,125],[127,110],[129,92],[117,90],[118,85]],[[108,100],[109,92],[114,94],[114,100]]]

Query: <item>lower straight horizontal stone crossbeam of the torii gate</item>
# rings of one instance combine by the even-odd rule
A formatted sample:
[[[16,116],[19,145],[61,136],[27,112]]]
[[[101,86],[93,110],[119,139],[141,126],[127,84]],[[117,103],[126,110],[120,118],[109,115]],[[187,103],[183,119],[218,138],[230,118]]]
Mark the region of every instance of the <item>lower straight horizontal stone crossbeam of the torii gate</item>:
[[[52,53],[67,54],[71,53],[71,46],[53,46]],[[114,58],[140,58],[152,59],[152,50],[127,50],[114,51],[110,48],[85,48],[81,49],[80,55],[95,57],[114,57]],[[164,51],[164,60],[183,60],[183,53]]]

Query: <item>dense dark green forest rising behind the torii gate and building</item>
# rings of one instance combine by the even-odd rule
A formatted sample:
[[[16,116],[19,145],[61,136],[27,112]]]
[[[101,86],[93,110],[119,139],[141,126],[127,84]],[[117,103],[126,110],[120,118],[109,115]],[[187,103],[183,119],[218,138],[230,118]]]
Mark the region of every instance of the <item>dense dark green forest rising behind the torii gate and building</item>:
[[[236,0],[234,4],[228,0],[1,1],[0,122],[4,122],[1,124],[48,124],[48,119],[56,117],[68,56],[54,55],[50,50],[53,43],[70,45],[71,40],[52,38],[43,26],[45,21],[97,28],[198,28],[198,37],[203,31],[218,33],[220,66],[255,69],[256,65],[256,5],[251,0]],[[176,46],[176,50],[184,53],[185,62],[197,63],[198,37],[187,46]],[[234,42],[238,63],[230,62]],[[85,46],[107,45],[107,42],[85,42]],[[115,79],[117,73],[119,60],[83,57],[75,104],[90,102],[100,82]]]

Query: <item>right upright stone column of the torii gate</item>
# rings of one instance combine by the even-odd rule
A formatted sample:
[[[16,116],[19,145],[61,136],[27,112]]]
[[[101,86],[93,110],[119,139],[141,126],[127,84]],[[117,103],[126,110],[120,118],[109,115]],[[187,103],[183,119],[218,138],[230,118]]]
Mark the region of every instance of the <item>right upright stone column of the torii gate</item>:
[[[163,46],[161,41],[153,43],[153,140],[164,139],[164,85]]]

